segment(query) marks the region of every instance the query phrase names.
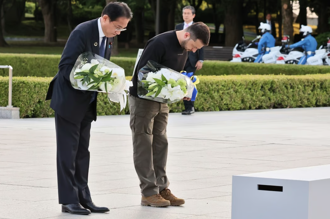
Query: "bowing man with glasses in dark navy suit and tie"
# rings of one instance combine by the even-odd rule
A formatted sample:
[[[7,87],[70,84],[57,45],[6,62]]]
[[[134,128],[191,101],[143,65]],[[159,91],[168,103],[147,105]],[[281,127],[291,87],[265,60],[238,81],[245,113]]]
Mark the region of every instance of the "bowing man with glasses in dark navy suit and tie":
[[[89,138],[91,122],[96,121],[98,92],[76,90],[70,73],[78,56],[92,52],[110,59],[113,38],[125,30],[132,18],[126,3],[108,4],[101,18],[79,24],[64,47],[58,72],[50,82],[46,100],[55,111],[57,143],[58,201],[62,212],[90,214],[107,212],[96,206],[88,189]]]

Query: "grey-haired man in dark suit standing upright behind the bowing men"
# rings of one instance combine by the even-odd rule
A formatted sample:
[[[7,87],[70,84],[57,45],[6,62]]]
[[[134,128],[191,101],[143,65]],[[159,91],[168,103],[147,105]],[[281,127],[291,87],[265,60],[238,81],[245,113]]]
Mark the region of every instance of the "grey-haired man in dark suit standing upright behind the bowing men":
[[[195,18],[195,8],[192,6],[185,6],[182,9],[182,17],[184,22],[177,24],[175,26],[176,30],[183,30],[194,23],[193,19]],[[203,47],[196,51],[196,53],[190,53],[188,55],[188,59],[184,65],[184,71],[187,73],[193,72],[196,70],[200,70],[203,67],[204,62],[204,49]],[[184,111],[182,115],[190,115],[195,112],[194,102],[191,100],[183,100]]]

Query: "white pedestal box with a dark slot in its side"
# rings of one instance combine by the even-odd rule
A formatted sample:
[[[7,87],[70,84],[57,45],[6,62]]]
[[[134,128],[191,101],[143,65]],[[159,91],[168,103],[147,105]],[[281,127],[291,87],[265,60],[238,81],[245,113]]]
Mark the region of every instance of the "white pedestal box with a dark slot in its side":
[[[329,219],[330,165],[233,176],[231,219]]]

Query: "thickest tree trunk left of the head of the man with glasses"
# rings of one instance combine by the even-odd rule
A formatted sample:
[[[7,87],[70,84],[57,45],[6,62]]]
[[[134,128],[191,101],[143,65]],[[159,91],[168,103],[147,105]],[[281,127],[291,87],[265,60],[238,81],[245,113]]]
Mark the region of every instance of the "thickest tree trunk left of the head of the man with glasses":
[[[56,0],[39,0],[45,23],[45,43],[56,42]]]

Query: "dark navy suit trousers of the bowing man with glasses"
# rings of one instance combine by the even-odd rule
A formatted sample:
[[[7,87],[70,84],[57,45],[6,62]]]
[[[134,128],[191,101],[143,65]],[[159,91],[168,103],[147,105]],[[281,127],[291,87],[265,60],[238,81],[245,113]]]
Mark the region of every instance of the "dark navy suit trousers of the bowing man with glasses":
[[[87,186],[89,137],[93,121],[91,104],[81,123],[71,123],[55,112],[57,187],[60,204],[91,202]]]

